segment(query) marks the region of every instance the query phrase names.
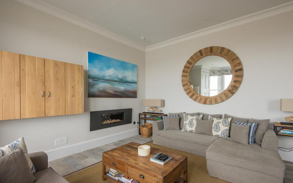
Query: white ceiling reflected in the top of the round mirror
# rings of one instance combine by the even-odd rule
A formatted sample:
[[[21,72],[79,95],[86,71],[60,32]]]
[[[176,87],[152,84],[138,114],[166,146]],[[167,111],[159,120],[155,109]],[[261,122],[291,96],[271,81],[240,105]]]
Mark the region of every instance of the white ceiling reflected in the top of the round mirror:
[[[200,59],[199,61],[197,61],[194,66],[205,66],[205,67],[209,67],[209,68],[213,68],[213,67],[231,67],[231,65],[229,64],[228,61],[226,61],[226,59],[224,59],[223,57],[219,57],[216,55],[210,55],[207,57],[203,57],[202,59]]]

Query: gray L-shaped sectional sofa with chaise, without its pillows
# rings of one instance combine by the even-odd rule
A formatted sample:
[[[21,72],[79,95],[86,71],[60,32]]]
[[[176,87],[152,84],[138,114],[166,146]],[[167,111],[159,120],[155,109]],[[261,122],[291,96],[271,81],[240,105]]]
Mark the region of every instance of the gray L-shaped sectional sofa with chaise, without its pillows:
[[[163,130],[159,120],[153,122],[153,143],[206,157],[212,177],[234,183],[283,183],[285,164],[278,153],[277,135],[270,128],[261,145],[243,145],[217,136]]]

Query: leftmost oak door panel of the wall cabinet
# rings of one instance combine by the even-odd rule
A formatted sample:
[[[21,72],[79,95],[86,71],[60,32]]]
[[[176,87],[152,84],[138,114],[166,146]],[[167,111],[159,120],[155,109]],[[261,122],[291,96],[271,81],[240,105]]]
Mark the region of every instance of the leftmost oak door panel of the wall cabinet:
[[[20,117],[19,54],[1,52],[1,119]]]

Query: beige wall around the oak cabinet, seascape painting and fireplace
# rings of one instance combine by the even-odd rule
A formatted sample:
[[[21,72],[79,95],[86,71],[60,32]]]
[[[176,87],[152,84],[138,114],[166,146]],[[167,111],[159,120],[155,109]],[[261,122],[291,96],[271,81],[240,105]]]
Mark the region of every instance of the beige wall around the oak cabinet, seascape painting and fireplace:
[[[80,28],[16,1],[1,1],[0,50],[84,65],[87,51],[137,64],[137,98],[87,98],[84,114],[0,121],[0,147],[24,136],[30,152],[51,150],[54,139],[68,136],[69,145],[136,129],[127,124],[89,131],[89,111],[133,108],[132,120],[144,107],[145,53]],[[5,109],[4,109],[5,110]]]

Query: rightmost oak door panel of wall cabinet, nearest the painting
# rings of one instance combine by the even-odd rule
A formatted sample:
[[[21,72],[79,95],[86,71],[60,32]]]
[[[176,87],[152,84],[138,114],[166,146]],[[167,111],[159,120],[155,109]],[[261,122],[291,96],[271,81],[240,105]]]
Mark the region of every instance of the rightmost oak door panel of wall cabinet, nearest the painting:
[[[65,63],[65,113],[83,113],[83,66]]]

